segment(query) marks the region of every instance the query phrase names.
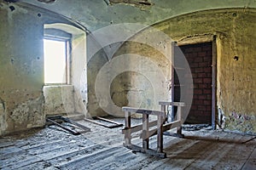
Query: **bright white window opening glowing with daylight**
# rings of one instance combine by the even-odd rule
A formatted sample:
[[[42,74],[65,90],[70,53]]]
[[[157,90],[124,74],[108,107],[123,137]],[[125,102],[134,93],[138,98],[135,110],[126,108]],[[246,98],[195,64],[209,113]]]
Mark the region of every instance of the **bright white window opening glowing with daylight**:
[[[44,39],[44,83],[67,83],[67,42]]]

